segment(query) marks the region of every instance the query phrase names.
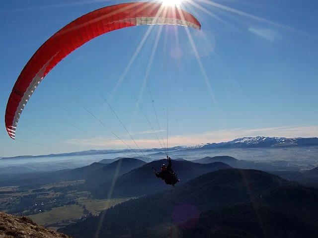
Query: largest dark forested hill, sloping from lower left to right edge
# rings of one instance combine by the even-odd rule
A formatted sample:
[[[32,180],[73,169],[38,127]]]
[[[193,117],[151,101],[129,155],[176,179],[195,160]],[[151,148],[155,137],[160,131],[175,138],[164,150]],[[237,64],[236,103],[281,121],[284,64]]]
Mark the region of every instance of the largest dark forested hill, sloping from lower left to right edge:
[[[99,238],[214,237],[209,229],[223,238],[286,237],[282,234],[291,227],[289,237],[317,237],[317,199],[314,188],[261,171],[226,169],[119,204],[60,231],[77,238],[94,237],[98,226]],[[259,234],[260,228],[268,236]]]

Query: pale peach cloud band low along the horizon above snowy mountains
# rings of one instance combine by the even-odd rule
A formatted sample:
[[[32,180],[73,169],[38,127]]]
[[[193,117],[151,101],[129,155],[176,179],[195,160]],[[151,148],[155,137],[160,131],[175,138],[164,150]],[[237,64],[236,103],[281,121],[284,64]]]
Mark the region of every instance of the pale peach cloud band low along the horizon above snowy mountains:
[[[318,136],[318,126],[282,126],[282,127],[267,127],[267,128],[256,128],[256,129],[226,129],[208,131],[204,133],[196,134],[180,134],[170,136],[168,138],[168,146],[176,145],[197,145],[201,143],[213,143],[230,141],[239,137],[245,136],[280,136],[280,137],[316,137]],[[132,148],[136,148],[134,141],[125,139],[124,140]],[[136,139],[136,143],[141,148],[155,148],[159,147],[157,139]],[[166,142],[164,140],[164,142]],[[103,137],[94,137],[86,139],[71,139],[67,140],[66,143],[91,146],[94,148],[127,148],[123,142],[117,138],[107,139]]]

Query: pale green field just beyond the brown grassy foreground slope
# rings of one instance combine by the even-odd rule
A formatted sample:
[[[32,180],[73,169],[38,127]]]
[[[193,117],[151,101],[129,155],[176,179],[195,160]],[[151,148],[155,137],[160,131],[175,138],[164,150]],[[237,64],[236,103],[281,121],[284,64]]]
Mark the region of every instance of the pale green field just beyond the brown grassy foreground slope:
[[[29,217],[38,225],[61,222],[64,220],[79,219],[84,209],[78,205],[55,207],[51,211],[42,212]]]

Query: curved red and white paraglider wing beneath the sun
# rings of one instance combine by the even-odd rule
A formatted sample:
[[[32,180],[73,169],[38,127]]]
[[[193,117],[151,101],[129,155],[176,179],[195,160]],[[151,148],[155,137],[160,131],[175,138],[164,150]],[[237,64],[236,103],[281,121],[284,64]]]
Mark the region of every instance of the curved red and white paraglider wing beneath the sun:
[[[176,6],[132,2],[89,12],[55,33],[35,52],[14,84],[5,111],[5,127],[9,136],[15,138],[17,122],[26,103],[45,75],[62,59],[89,40],[109,31],[150,24],[201,28],[194,16]]]

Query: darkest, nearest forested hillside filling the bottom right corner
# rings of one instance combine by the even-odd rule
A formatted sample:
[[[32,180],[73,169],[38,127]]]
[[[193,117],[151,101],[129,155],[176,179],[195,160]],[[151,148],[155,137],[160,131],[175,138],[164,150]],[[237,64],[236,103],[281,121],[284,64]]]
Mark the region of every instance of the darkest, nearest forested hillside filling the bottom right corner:
[[[184,238],[314,238],[318,237],[318,191],[277,187],[252,202],[200,214]]]

